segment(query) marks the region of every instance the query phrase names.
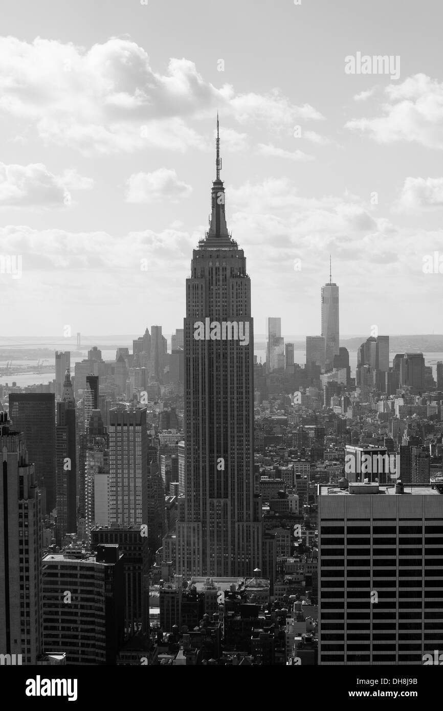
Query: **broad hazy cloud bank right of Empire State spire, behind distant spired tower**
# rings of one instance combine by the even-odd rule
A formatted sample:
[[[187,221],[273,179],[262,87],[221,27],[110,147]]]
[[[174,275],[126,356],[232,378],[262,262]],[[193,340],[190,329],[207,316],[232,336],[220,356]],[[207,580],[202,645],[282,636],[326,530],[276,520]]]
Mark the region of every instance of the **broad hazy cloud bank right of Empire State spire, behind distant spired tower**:
[[[343,321],[355,319],[358,304],[368,324],[381,323],[387,304],[401,311],[411,289],[417,309],[427,313],[429,304],[434,304],[437,317],[441,284],[427,278],[422,264],[423,256],[432,255],[442,244],[443,230],[395,225],[385,216],[378,217],[368,201],[348,192],[306,198],[288,178],[244,183],[228,190],[227,204],[231,210],[228,226],[233,235],[241,235],[252,296],[259,304],[256,309],[260,310],[266,293],[267,313],[288,300],[309,304],[312,310],[321,284],[329,279],[331,254],[333,280],[341,289]],[[297,272],[296,258],[301,260]],[[386,284],[395,284],[389,301]],[[304,319],[304,328],[309,328],[309,319]],[[294,332],[295,326],[288,328]],[[316,331],[312,326],[311,332]]]

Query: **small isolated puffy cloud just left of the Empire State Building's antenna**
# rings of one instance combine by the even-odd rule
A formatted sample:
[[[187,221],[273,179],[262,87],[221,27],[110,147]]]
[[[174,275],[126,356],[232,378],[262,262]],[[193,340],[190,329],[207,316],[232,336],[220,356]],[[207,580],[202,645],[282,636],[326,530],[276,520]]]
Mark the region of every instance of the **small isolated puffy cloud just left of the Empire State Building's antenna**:
[[[159,168],[153,173],[132,173],[127,179],[127,203],[178,201],[191,195],[192,187],[179,181],[176,171]]]

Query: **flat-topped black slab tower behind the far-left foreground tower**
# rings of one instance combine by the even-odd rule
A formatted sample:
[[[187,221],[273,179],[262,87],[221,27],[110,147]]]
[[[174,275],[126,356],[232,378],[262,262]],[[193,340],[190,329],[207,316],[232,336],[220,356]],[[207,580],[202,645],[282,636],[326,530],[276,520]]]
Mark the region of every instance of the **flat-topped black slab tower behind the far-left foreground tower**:
[[[28,461],[34,465],[41,490],[42,513],[56,506],[55,488],[55,396],[50,392],[10,392],[9,417],[14,429],[23,432]]]

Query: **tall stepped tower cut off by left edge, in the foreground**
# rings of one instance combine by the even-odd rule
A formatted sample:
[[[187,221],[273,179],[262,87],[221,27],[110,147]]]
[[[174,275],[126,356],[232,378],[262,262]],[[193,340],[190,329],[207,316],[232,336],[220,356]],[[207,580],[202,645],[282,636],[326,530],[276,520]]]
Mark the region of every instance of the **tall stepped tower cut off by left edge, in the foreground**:
[[[41,498],[23,434],[6,412],[0,451],[0,651],[36,664],[43,643]]]

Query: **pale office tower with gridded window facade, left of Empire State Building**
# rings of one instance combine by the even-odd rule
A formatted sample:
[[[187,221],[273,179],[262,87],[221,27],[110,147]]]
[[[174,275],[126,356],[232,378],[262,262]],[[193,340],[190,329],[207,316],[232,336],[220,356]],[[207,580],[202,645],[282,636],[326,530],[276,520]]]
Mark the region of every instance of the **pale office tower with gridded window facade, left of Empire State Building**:
[[[110,523],[143,520],[142,488],[148,474],[146,408],[110,411]]]

